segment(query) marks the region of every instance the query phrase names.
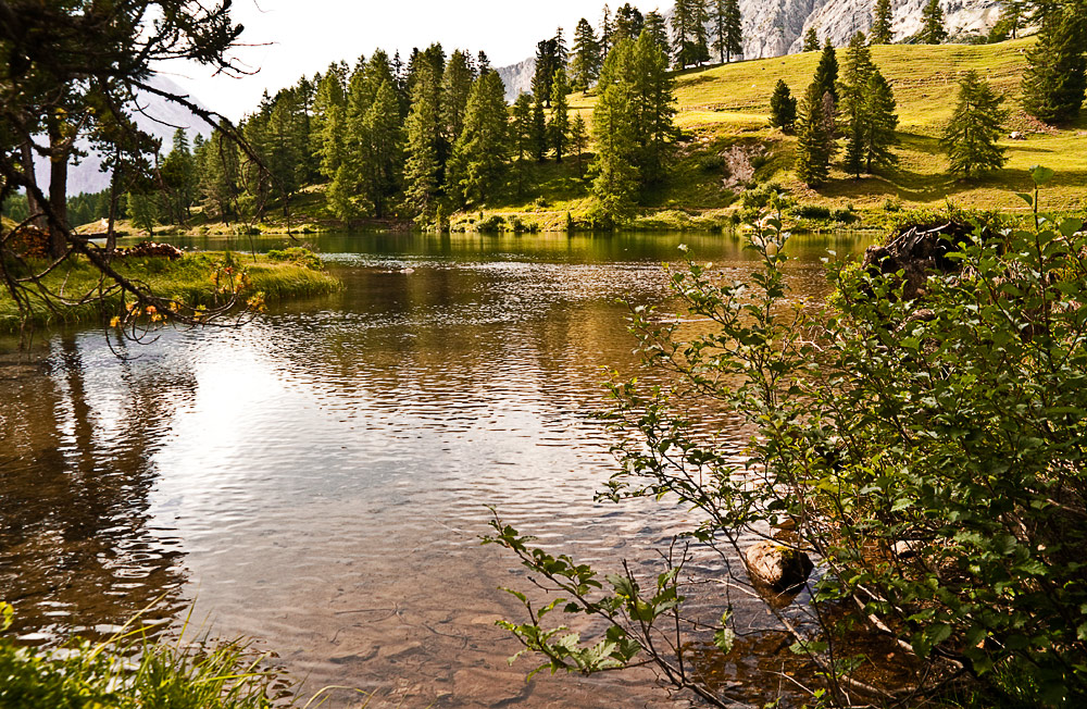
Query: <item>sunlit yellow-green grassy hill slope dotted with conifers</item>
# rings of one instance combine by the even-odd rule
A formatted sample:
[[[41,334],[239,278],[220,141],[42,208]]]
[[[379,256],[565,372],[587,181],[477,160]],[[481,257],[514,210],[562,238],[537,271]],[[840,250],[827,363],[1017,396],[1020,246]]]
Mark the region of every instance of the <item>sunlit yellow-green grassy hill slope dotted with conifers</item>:
[[[1045,164],[1058,171],[1047,204],[1063,210],[1087,208],[1087,111],[1078,124],[1055,130],[1035,122],[1020,108],[1025,53],[1033,42],[1027,38],[987,46],[874,47],[873,59],[898,100],[902,141],[897,149],[901,160],[898,167],[879,175],[852,179],[833,172],[833,182],[817,194],[796,179],[796,139],[769,127],[770,96],[778,79],[784,79],[795,96],[801,95],[814,74],[819,59],[815,52],[680,74],[676,82],[676,121],[692,136],[683,152],[704,157],[707,150],[720,153],[736,141],[761,141],[770,151],[770,160],[759,169],[758,178],[777,181],[805,201],[870,209],[879,208],[888,199],[941,206],[947,198],[979,208],[1020,208],[1022,202],[1012,190],[1026,189],[1030,184],[1027,169]],[[1005,138],[1008,165],[966,182],[947,174],[939,136],[954,109],[957,77],[969,70],[977,71],[1008,97],[1005,105],[1012,114],[1008,132],[1022,132],[1025,139]],[[574,99],[573,105],[588,115],[595,98],[578,94]],[[684,207],[712,207],[699,204],[676,189],[667,199]],[[702,189],[699,194],[707,192]]]

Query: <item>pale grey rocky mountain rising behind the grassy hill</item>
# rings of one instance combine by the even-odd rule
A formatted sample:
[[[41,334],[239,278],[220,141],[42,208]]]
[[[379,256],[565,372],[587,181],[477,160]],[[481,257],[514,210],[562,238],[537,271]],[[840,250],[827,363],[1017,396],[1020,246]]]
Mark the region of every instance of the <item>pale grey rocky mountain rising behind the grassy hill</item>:
[[[872,27],[874,0],[740,0],[744,15],[744,57],[762,59],[800,51],[809,27],[820,39],[830,38],[841,47],[858,32]],[[921,13],[926,0],[891,0],[895,40],[905,39],[921,29]],[[940,0],[951,35],[985,32],[1000,18],[999,0]],[[671,22],[672,10],[664,13]],[[532,87],[536,60],[502,66],[499,75],[505,83],[505,97],[514,100]]]

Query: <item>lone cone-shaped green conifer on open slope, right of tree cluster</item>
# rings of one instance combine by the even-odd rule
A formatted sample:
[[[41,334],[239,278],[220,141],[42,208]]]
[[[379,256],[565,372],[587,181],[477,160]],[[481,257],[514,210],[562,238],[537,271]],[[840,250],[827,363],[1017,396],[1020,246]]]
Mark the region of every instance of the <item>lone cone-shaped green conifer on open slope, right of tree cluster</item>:
[[[959,101],[940,139],[952,174],[970,177],[978,171],[999,169],[1008,161],[1004,148],[997,145],[1008,119],[1008,111],[1000,108],[1003,100],[977,72],[966,72],[959,79]]]

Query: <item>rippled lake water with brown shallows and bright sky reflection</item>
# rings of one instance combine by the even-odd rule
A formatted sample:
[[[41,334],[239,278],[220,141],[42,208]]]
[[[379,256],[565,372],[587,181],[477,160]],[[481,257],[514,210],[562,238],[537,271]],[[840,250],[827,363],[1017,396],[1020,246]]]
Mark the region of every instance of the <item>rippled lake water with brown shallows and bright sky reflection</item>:
[[[648,672],[525,684],[532,666],[508,667],[518,646],[493,621],[521,618],[497,589],[526,581],[478,536],[493,506],[554,549],[655,570],[684,512],[592,501],[614,467],[588,416],[600,368],[636,364],[615,300],[665,301],[660,263],[680,241],[736,275],[752,256],[692,235],[305,240],[343,291],[238,329],[168,332],[128,361],[95,329],[0,356],[0,597],[17,632],[108,633],[146,606],[171,619],[195,601],[197,621],[275,650],[304,692],[673,706]],[[863,246],[796,239],[797,291],[826,291],[827,249]],[[720,614],[720,599],[698,602]],[[760,626],[763,611],[739,602]],[[750,676],[759,651],[730,673]]]

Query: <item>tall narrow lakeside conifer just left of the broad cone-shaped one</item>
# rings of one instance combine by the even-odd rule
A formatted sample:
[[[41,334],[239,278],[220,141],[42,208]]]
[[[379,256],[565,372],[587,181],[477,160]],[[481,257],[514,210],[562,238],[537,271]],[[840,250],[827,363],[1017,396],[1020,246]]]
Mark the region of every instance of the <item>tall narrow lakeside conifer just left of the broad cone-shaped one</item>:
[[[404,194],[409,211],[421,222],[434,219],[438,207],[438,105],[432,90],[434,67],[423,63],[412,90],[408,114],[408,162],[404,166]]]

